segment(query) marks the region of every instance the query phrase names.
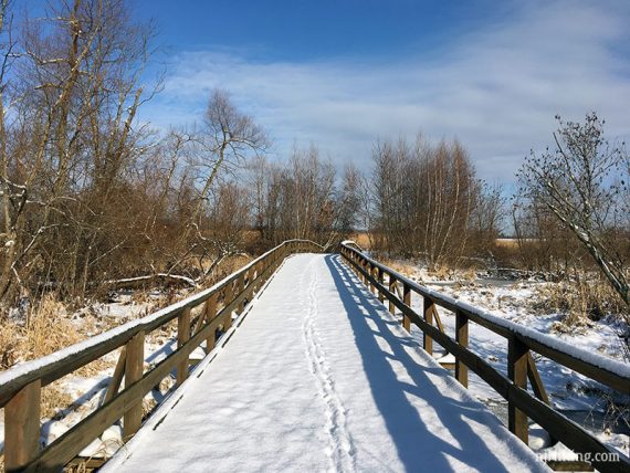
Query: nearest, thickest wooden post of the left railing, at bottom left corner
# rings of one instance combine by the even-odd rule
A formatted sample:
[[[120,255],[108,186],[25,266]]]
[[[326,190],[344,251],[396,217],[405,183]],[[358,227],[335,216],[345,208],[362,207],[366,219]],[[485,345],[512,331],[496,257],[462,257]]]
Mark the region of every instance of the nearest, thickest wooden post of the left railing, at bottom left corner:
[[[4,406],[4,469],[22,470],[40,452],[40,379],[24,386]]]

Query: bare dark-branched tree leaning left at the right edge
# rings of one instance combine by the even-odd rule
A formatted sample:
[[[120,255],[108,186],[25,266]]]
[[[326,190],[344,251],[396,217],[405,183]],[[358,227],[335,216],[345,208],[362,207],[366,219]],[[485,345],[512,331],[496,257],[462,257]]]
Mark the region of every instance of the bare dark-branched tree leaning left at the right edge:
[[[612,176],[628,182],[628,156],[603,138],[597,114],[585,123],[559,123],[555,146],[542,155],[532,151],[518,172],[521,193],[531,204],[544,206],[588,251],[621,299],[630,305],[627,252],[616,227],[627,206]],[[626,229],[626,235],[628,229]]]

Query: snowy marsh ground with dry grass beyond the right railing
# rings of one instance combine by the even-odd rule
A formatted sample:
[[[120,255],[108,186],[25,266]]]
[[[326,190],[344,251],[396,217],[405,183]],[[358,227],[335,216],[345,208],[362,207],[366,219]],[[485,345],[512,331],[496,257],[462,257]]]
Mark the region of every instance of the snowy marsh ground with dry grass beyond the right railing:
[[[589,353],[597,353],[615,360],[628,362],[624,359],[623,347],[618,336],[619,322],[602,319],[588,327],[563,328],[559,324],[561,315],[557,313],[540,313],[540,287],[544,284],[536,281],[501,281],[476,280],[470,281],[439,281],[423,270],[410,274],[410,278],[420,282],[429,288],[466,302],[476,307],[491,311],[494,315],[522,324],[531,329],[552,335],[570,345]],[[412,293],[412,306],[421,313],[422,298]],[[440,308],[442,324],[447,333],[454,337],[455,317],[452,313]],[[557,329],[557,328],[560,329]],[[421,341],[422,333],[413,327],[412,335]],[[444,355],[437,344],[435,357]],[[495,369],[507,372],[507,341],[476,324],[470,327],[470,347],[481,355]],[[544,357],[535,355],[536,366],[556,409],[559,409],[571,420],[580,423],[594,432],[602,442],[618,449],[626,455],[630,452],[629,443],[629,412],[628,397],[618,393],[609,395],[609,390],[596,381],[556,364]],[[470,391],[501,418],[505,418],[505,401],[490,388],[481,378],[471,372]],[[616,416],[610,400],[617,401],[617,407],[626,409],[624,416]],[[624,407],[623,407],[624,406]],[[618,413],[618,412],[617,412]],[[536,425],[534,432],[542,432]],[[533,448],[546,445],[546,434],[534,434]]]

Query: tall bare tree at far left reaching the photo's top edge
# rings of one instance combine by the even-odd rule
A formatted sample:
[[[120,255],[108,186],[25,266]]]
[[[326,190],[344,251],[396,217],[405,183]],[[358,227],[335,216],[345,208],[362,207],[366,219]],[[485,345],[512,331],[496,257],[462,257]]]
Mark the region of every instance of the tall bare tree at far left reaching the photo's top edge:
[[[145,94],[140,82],[151,34],[124,0],[74,0],[49,2],[43,18],[23,19],[10,40],[2,103],[10,101],[11,120],[2,113],[0,127],[9,190],[2,238],[10,242],[2,297],[36,277],[83,292],[98,262],[120,248],[112,200],[128,188],[144,149],[135,117],[155,92]]]

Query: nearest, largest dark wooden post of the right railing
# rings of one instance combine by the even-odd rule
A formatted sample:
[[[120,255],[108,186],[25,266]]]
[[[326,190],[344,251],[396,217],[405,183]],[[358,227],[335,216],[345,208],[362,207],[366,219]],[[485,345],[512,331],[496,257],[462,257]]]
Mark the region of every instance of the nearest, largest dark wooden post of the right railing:
[[[527,389],[527,358],[529,349],[517,337],[510,337],[507,343],[507,376],[515,386]],[[507,400],[507,427],[512,433],[526,444],[529,432],[527,416],[514,406],[512,399]]]

